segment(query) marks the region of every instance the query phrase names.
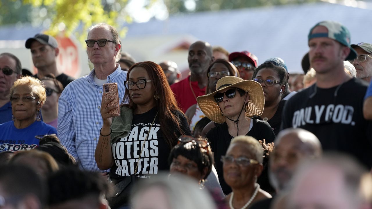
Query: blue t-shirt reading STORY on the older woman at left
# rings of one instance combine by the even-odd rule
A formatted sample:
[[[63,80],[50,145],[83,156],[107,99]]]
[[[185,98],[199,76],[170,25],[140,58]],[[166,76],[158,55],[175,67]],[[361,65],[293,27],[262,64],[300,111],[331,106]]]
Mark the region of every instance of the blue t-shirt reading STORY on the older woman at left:
[[[14,121],[0,124],[0,152],[2,151],[21,151],[36,148],[39,139],[36,135],[57,134],[57,130],[42,121],[33,122],[26,128],[17,129]]]

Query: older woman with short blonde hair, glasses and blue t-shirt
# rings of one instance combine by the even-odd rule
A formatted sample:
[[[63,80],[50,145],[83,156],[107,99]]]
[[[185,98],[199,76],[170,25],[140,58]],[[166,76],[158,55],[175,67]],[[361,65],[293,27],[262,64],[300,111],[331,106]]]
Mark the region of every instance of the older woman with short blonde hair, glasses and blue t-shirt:
[[[0,124],[0,152],[33,149],[39,145],[36,135],[57,134],[53,126],[41,121],[40,109],[46,94],[37,78],[16,80],[9,95],[13,121]]]

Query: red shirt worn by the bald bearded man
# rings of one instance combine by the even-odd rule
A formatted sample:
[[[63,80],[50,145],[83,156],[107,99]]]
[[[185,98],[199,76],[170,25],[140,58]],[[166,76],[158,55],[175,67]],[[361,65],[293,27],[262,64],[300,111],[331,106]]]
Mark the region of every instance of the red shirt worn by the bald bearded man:
[[[191,87],[195,93],[192,93],[190,89],[190,75],[181,80],[178,83],[174,83],[170,86],[172,89],[174,96],[176,97],[176,100],[178,102],[178,106],[183,112],[186,112],[187,109],[189,109],[190,106],[196,104],[195,96],[203,96],[205,94],[205,88],[200,89],[198,86],[198,81],[191,81]]]

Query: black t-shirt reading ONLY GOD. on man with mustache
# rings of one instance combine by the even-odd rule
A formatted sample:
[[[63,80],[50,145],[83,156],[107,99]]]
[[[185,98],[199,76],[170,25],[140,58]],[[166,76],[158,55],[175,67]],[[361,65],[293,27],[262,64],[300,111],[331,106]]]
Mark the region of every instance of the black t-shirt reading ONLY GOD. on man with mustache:
[[[314,84],[287,101],[282,129],[306,129],[318,137],[325,151],[353,155],[371,168],[372,123],[362,112],[366,90],[367,85],[357,78],[329,89]]]

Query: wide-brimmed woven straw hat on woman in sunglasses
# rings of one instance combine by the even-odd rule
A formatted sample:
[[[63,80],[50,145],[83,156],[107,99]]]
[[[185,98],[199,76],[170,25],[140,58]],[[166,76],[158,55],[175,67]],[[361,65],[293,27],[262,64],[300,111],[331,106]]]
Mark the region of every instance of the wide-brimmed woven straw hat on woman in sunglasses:
[[[243,80],[235,76],[225,76],[217,81],[216,91],[197,98],[198,105],[205,116],[216,123],[223,123],[226,118],[222,115],[214,95],[227,88],[238,88],[248,92],[249,100],[245,116],[248,118],[260,116],[265,105],[265,97],[261,84],[253,80]]]

